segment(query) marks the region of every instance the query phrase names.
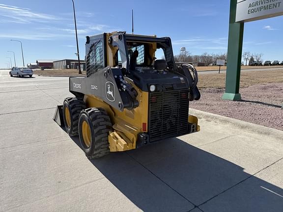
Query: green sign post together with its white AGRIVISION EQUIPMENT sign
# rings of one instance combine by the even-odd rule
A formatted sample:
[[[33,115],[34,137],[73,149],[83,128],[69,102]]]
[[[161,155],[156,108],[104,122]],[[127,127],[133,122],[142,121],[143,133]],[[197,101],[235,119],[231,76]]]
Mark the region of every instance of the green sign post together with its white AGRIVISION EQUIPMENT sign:
[[[228,58],[224,100],[241,100],[240,76],[244,22],[283,15],[283,0],[230,0]]]

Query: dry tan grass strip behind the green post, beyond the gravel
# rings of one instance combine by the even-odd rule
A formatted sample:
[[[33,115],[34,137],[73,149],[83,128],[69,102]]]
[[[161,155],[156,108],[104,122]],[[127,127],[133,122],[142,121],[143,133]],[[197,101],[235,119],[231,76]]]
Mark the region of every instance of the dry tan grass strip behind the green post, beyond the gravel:
[[[198,88],[225,88],[226,74],[198,75]],[[283,70],[251,71],[241,73],[240,87],[254,84],[283,82]]]

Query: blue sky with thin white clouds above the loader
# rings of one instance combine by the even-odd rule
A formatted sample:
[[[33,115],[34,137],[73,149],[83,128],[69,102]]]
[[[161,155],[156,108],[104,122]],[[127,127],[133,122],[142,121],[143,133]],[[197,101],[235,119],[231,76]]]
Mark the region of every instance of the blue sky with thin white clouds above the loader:
[[[81,58],[85,36],[115,30],[170,36],[175,54],[186,47],[192,54],[226,53],[229,0],[74,0]],[[245,24],[243,51],[263,53],[264,60],[283,60],[283,16]],[[0,67],[14,51],[22,65],[36,59],[76,58],[71,0],[0,0]],[[13,62],[13,60],[12,60]]]

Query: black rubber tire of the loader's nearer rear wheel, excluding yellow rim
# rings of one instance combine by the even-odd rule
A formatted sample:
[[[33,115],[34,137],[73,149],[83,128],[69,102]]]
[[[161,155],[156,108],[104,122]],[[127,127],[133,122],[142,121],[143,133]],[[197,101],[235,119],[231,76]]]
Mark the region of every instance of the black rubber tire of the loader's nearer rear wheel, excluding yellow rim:
[[[83,123],[90,131],[90,144],[86,146],[83,135]],[[103,108],[87,108],[82,110],[79,119],[79,136],[81,147],[88,159],[100,158],[110,153],[108,135],[112,130],[110,117]]]

